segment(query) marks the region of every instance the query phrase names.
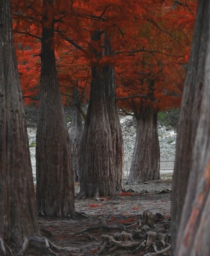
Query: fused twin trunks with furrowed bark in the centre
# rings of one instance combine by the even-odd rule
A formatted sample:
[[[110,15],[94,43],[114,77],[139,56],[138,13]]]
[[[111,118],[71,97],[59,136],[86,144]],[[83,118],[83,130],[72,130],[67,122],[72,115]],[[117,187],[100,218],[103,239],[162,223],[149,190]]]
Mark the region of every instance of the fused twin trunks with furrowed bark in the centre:
[[[96,31],[93,40],[99,41]],[[106,35],[105,35],[106,38]],[[104,40],[104,52],[110,45]],[[111,65],[92,67],[92,81],[87,121],[82,135],[81,177],[78,197],[116,195],[123,186],[122,131],[115,100],[115,69]]]

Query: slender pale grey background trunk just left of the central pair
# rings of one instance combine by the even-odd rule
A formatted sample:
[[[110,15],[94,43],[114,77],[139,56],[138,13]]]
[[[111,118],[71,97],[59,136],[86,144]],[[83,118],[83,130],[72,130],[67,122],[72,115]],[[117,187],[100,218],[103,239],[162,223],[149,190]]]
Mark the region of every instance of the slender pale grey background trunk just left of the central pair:
[[[73,114],[71,121],[70,145],[71,165],[73,168],[75,182],[79,182],[79,155],[82,137],[82,118],[78,107],[80,107],[79,93],[77,88],[73,87]]]

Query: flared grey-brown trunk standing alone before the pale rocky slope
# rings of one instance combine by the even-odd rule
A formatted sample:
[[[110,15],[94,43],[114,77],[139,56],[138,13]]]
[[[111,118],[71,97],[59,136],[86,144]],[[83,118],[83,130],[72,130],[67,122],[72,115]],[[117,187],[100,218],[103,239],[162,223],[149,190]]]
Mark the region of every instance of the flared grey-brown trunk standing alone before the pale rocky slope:
[[[160,178],[157,113],[153,110],[142,109],[135,116],[137,135],[127,184],[142,183]]]

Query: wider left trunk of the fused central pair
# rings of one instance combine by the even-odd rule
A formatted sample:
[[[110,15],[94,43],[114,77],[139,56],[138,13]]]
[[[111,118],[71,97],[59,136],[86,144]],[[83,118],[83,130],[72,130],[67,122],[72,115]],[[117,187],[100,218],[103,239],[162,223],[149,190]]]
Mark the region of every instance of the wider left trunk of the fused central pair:
[[[116,194],[112,136],[106,107],[104,77],[92,67],[87,121],[82,135],[79,197]]]

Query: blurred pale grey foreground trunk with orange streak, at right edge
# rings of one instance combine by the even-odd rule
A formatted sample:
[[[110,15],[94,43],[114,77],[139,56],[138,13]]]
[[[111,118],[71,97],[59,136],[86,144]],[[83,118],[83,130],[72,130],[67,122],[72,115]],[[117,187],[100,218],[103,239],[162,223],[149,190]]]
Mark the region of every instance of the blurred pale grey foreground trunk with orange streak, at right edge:
[[[206,8],[210,10],[210,2]],[[192,165],[177,236],[177,256],[210,255],[210,37],[206,57]]]

